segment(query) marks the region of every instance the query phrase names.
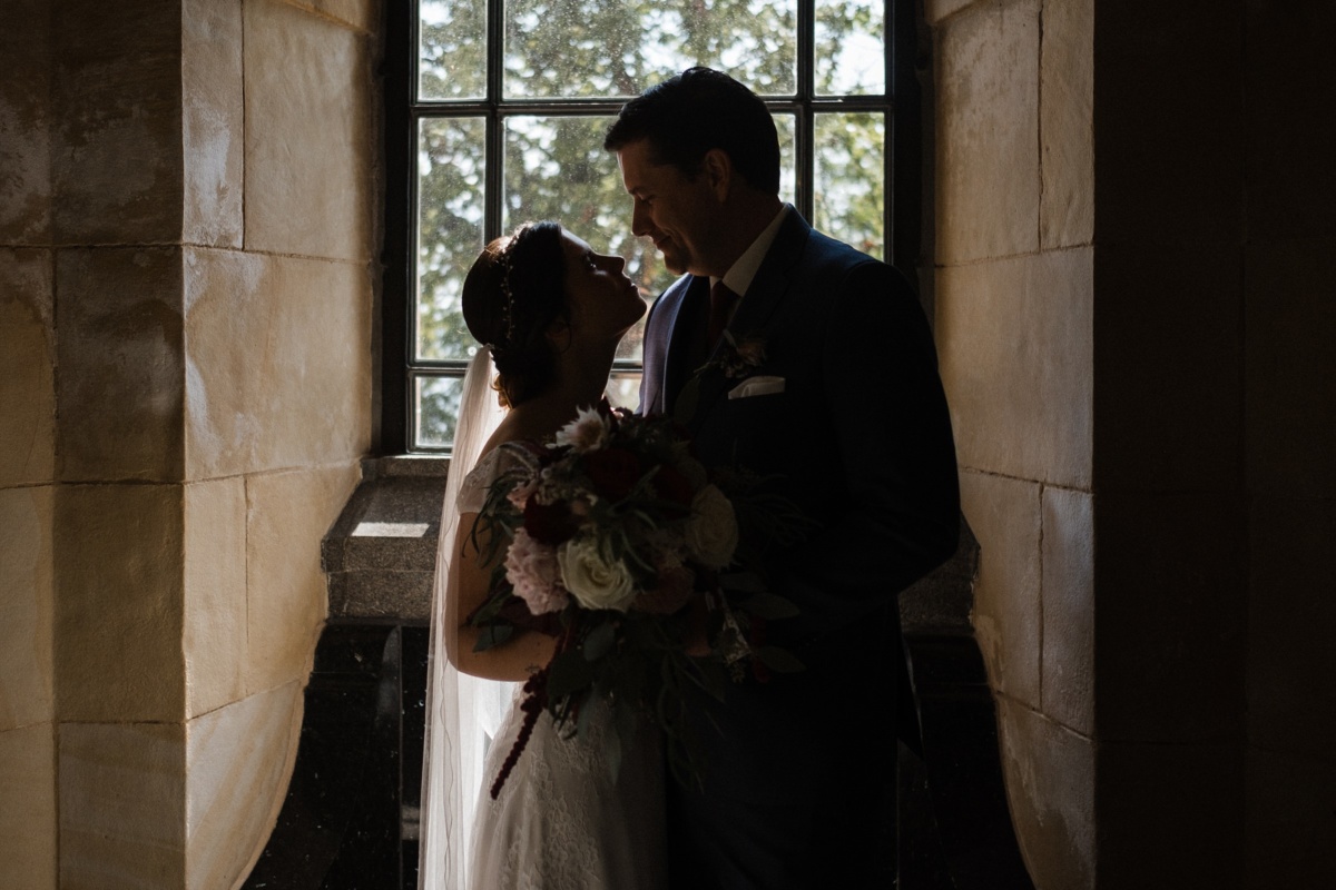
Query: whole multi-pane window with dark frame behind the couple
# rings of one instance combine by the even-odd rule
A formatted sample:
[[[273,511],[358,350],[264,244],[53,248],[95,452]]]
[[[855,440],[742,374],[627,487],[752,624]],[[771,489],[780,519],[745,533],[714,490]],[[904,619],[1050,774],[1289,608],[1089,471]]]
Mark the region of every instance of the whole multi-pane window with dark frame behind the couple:
[[[387,13],[403,39],[386,57],[382,450],[449,450],[476,348],[460,290],[497,235],[554,219],[625,258],[647,300],[672,282],[653,246],[631,235],[631,199],[603,137],[627,99],[693,64],[729,72],[767,101],[784,200],[819,230],[894,260],[888,35],[908,0],[403,5]],[[617,355],[613,403],[636,403],[640,340],[632,331]]]

